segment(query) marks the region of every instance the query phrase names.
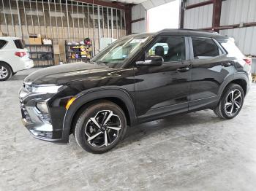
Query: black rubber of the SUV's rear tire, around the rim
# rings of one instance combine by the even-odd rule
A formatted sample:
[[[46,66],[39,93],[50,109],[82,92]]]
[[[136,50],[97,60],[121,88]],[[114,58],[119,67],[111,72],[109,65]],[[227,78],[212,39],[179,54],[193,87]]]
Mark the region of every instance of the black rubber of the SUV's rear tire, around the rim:
[[[230,93],[230,91],[235,90],[235,89],[238,89],[241,92],[242,101],[241,101],[241,106],[238,109],[238,112],[236,112],[236,114],[234,114],[233,116],[230,116],[230,115],[227,115],[226,112],[225,112],[225,99],[227,98],[227,95]],[[243,88],[240,85],[236,85],[236,84],[229,85],[226,88],[225,93],[222,95],[222,99],[221,99],[221,109],[220,110],[221,110],[222,116],[225,119],[232,119],[232,118],[236,117],[239,114],[239,112],[241,111],[241,109],[243,107],[243,104],[244,104],[244,90],[243,90]]]

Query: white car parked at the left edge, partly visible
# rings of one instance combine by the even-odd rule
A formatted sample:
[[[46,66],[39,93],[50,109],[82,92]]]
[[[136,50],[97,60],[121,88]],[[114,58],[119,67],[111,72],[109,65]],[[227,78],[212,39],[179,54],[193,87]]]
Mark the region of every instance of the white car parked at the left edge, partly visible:
[[[34,67],[29,58],[22,39],[18,37],[0,37],[0,81],[4,81],[16,74],[17,71]]]

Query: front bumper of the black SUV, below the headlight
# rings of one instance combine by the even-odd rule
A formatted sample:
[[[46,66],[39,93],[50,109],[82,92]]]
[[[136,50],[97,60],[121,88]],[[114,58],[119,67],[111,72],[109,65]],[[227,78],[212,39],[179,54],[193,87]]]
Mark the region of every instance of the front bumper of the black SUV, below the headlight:
[[[37,139],[50,142],[67,143],[62,138],[62,128],[53,128],[49,114],[37,109],[38,101],[48,101],[53,95],[49,93],[34,94],[21,88],[19,91],[20,109],[23,125]]]

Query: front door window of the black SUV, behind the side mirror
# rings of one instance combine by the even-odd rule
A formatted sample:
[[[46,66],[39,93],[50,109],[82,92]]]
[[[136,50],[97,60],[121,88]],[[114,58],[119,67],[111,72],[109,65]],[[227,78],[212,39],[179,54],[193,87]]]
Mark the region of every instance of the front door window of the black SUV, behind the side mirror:
[[[146,52],[149,55],[159,55],[164,62],[184,61],[185,55],[184,37],[180,36],[159,36],[157,42]]]

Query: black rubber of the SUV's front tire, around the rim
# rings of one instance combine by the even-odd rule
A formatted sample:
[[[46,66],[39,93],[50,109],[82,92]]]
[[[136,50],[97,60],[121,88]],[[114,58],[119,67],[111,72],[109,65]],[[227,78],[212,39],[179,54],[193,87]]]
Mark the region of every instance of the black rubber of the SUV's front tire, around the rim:
[[[91,117],[94,117],[97,114],[97,112],[100,112],[102,110],[111,110],[114,114],[118,115],[118,117],[121,120],[121,130],[119,130],[118,137],[115,141],[113,141],[112,144],[110,144],[108,147],[97,148],[89,144],[89,142],[86,140],[86,134],[84,132],[86,124],[89,121],[89,119]],[[80,114],[78,122],[75,126],[75,139],[78,142],[79,146],[85,149],[86,151],[92,153],[103,153],[108,152],[110,149],[113,149],[113,147],[115,147],[116,144],[118,144],[118,142],[124,137],[126,130],[127,121],[124,112],[116,104],[113,104],[111,102],[104,102],[91,105],[82,114]]]

